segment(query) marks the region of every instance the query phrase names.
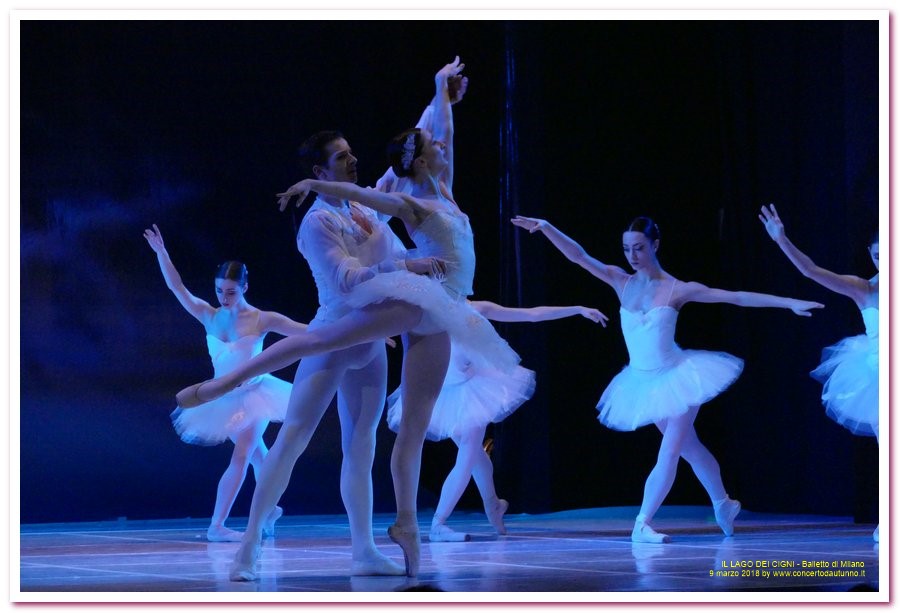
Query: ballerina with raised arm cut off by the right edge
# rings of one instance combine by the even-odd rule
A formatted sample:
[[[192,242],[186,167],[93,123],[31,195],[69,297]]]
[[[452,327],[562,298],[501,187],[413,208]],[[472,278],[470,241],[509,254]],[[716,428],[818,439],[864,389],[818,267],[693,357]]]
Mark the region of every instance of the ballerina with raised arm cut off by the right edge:
[[[787,237],[774,204],[762,207],[759,220],[804,277],[847,296],[859,308],[866,333],[826,347],[822,363],[810,374],[824,384],[822,403],[831,419],[854,434],[878,440],[878,272],[863,279],[817,266]],[[869,256],[878,271],[878,232],[869,242]],[[872,538],[878,541],[878,527]]]

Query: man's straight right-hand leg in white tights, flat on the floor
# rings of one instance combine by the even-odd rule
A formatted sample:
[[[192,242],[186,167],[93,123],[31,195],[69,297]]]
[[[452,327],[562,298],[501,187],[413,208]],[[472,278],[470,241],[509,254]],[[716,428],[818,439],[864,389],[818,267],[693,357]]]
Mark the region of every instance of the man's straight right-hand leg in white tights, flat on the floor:
[[[375,431],[384,411],[384,347],[360,369],[348,370],[338,390],[341,420],[341,498],[350,522],[352,575],[402,575],[405,569],[375,547],[372,534],[372,463]]]

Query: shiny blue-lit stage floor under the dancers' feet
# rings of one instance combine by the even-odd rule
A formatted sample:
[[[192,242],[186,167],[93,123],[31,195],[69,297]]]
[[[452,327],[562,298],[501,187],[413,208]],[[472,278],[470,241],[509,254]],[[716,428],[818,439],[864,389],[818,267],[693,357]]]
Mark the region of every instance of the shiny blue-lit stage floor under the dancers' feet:
[[[207,522],[201,519],[24,525],[21,600],[39,600],[36,592],[301,592],[307,594],[296,594],[296,600],[305,600],[323,592],[446,591],[594,592],[603,601],[607,597],[600,592],[879,587],[875,526],[744,511],[735,536],[725,538],[710,508],[664,507],[654,526],[671,534],[672,543],[637,545],[630,540],[636,512],[617,507],[508,515],[509,534],[503,537],[492,533],[484,515],[456,513],[449,525],[472,533],[472,540],[429,543],[422,524],[422,569],[415,582],[348,576],[343,515],[282,518],[276,536],[264,543],[261,579],[253,583],[228,580],[237,543],[206,542]],[[392,519],[376,515],[376,543],[402,563],[400,548],[385,532]],[[239,529],[245,521],[229,523]],[[243,598],[235,594],[234,600]]]

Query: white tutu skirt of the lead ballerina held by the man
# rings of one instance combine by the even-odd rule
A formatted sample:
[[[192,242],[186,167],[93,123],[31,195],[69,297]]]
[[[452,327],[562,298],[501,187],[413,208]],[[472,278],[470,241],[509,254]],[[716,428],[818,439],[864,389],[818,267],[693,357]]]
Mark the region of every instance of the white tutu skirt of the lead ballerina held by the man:
[[[346,296],[347,304],[355,308],[385,300],[421,307],[425,311],[423,324],[446,331],[478,369],[511,373],[519,364],[519,355],[484,316],[464,297],[452,297],[429,277],[405,270],[380,273],[356,285]]]

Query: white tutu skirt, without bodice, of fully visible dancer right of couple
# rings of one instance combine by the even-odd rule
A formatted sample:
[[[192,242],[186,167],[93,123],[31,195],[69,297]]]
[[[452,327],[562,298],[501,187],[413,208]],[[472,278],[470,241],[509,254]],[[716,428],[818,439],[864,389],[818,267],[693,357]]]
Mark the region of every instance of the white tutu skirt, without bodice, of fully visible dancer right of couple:
[[[626,366],[607,386],[597,419],[613,430],[636,430],[687,413],[731,385],[744,361],[719,351],[676,347],[670,364],[656,370]]]

